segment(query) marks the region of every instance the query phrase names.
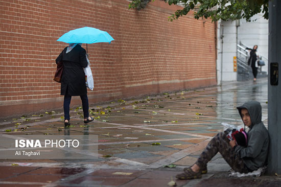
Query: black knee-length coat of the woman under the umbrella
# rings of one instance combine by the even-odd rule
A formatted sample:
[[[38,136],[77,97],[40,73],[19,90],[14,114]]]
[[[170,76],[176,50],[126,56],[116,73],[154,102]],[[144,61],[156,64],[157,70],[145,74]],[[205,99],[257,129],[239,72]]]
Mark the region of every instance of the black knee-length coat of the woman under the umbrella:
[[[87,67],[86,50],[77,44],[71,52],[66,53],[66,48],[56,59],[56,63],[63,62],[60,94],[70,96],[82,96],[87,94],[85,73],[83,67]]]

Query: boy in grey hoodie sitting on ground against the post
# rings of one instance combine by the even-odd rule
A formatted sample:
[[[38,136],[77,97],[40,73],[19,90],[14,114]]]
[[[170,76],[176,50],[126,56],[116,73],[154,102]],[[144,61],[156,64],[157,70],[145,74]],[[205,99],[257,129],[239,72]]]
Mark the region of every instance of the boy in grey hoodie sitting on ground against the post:
[[[206,146],[192,167],[184,168],[178,179],[201,178],[207,173],[207,162],[218,152],[236,172],[249,173],[266,165],[269,145],[268,131],[262,122],[262,106],[250,101],[237,107],[243,123],[249,127],[246,147],[230,141],[225,132],[218,133]]]

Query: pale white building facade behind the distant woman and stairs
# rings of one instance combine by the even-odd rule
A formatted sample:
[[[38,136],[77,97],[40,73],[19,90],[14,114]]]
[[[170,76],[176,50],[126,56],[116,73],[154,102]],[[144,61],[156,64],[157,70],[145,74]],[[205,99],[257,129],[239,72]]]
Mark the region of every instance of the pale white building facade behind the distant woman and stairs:
[[[256,19],[256,20],[255,20]],[[237,81],[237,72],[233,57],[237,56],[237,44],[244,44],[249,48],[258,45],[257,51],[266,59],[263,71],[267,72],[268,59],[268,20],[262,14],[252,17],[251,22],[246,20],[218,21],[217,30],[217,82]]]

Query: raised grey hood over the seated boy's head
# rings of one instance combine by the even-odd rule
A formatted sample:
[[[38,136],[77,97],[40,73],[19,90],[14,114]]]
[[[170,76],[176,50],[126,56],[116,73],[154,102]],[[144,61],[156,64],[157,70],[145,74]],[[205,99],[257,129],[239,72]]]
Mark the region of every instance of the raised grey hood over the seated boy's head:
[[[242,106],[237,107],[239,114],[242,118],[241,110],[245,108],[248,110],[250,118],[251,118],[251,126],[250,128],[258,123],[262,122],[262,106],[260,102],[257,101],[249,101],[244,103]],[[243,118],[242,118],[243,120]]]

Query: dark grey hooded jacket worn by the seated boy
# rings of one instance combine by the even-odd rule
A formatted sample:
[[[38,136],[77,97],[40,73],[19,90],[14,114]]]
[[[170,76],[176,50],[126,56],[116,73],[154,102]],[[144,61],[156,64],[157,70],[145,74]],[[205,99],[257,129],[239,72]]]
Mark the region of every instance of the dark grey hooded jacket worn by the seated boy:
[[[267,164],[269,135],[262,122],[261,104],[257,101],[244,103],[242,106],[237,107],[240,115],[243,108],[248,110],[252,124],[248,131],[247,147],[237,146],[235,152],[241,156],[245,165],[254,171]]]

